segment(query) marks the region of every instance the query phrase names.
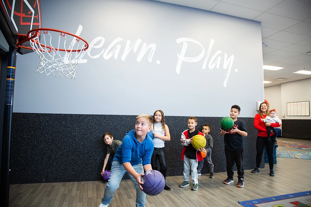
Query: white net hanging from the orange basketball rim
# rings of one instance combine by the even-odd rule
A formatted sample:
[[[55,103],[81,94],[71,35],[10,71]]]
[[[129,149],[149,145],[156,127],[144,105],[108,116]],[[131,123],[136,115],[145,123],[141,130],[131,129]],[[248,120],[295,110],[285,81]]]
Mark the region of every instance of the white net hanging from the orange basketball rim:
[[[30,46],[35,52],[38,53],[40,57],[40,64],[38,70],[35,72],[45,73],[46,75],[53,74],[54,76],[63,76],[69,79],[75,79],[75,71],[78,62],[86,53],[86,45],[79,38],[70,36],[69,34],[59,33],[57,48],[52,45],[51,34],[55,32],[42,31],[41,32],[41,42],[39,38],[34,38],[30,40]],[[66,48],[66,35],[73,37],[73,40],[69,47]],[[44,47],[48,46],[48,47]],[[51,49],[49,48],[51,47]],[[58,48],[65,48],[66,51],[60,51]],[[49,52],[51,50],[51,52]],[[80,52],[72,52],[74,50],[81,50]]]

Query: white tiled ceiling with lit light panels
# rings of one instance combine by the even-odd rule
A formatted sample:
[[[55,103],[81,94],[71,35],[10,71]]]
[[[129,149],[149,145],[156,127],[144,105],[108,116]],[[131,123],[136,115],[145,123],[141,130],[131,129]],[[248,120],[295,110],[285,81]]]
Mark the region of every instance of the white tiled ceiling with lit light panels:
[[[311,71],[311,0],[155,0],[261,22],[263,65],[284,67],[264,70],[264,80],[272,83],[311,78],[295,74]],[[276,80],[285,78],[282,80]]]

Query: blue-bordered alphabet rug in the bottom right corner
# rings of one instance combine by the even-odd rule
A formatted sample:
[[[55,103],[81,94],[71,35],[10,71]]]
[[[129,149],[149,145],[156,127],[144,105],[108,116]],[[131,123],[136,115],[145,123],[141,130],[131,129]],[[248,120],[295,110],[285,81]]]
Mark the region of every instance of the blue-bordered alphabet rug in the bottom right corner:
[[[311,191],[300,193],[291,193],[282,196],[273,196],[269,198],[260,198],[255,200],[239,201],[243,206],[257,207],[298,207],[311,206]]]

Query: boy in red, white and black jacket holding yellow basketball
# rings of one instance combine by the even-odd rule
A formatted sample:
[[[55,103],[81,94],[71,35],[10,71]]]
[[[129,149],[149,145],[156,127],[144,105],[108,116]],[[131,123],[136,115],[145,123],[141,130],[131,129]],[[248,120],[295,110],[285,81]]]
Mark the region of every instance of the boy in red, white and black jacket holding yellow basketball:
[[[183,183],[179,187],[189,186],[189,170],[191,169],[191,178],[193,186],[191,190],[196,191],[199,187],[197,180],[197,165],[198,161],[203,160],[202,151],[204,148],[195,149],[192,146],[193,137],[197,134],[204,136],[202,132],[195,129],[197,126],[197,118],[191,116],[188,119],[188,130],[183,131],[181,134],[181,144],[184,146],[181,153],[181,160],[183,160]]]

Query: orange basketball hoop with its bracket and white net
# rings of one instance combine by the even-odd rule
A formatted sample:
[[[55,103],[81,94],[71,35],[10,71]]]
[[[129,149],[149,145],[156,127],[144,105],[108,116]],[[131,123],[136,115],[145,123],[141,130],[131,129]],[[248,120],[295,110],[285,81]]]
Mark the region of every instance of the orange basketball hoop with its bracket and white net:
[[[82,26],[80,26],[76,34],[58,29],[32,29],[27,35],[18,35],[19,40],[22,39],[22,41],[17,43],[17,47],[32,49],[37,52],[40,57],[40,64],[35,72],[75,79],[76,67],[89,47],[88,43],[78,36],[82,30]],[[38,38],[40,33],[41,37]],[[58,43],[57,39],[52,39],[53,36],[58,36]],[[69,43],[66,45],[67,36],[73,37],[70,45],[68,45]],[[23,46],[22,44],[27,41],[30,41],[30,46]],[[57,47],[53,45],[57,45]],[[62,48],[60,49],[60,47]]]

